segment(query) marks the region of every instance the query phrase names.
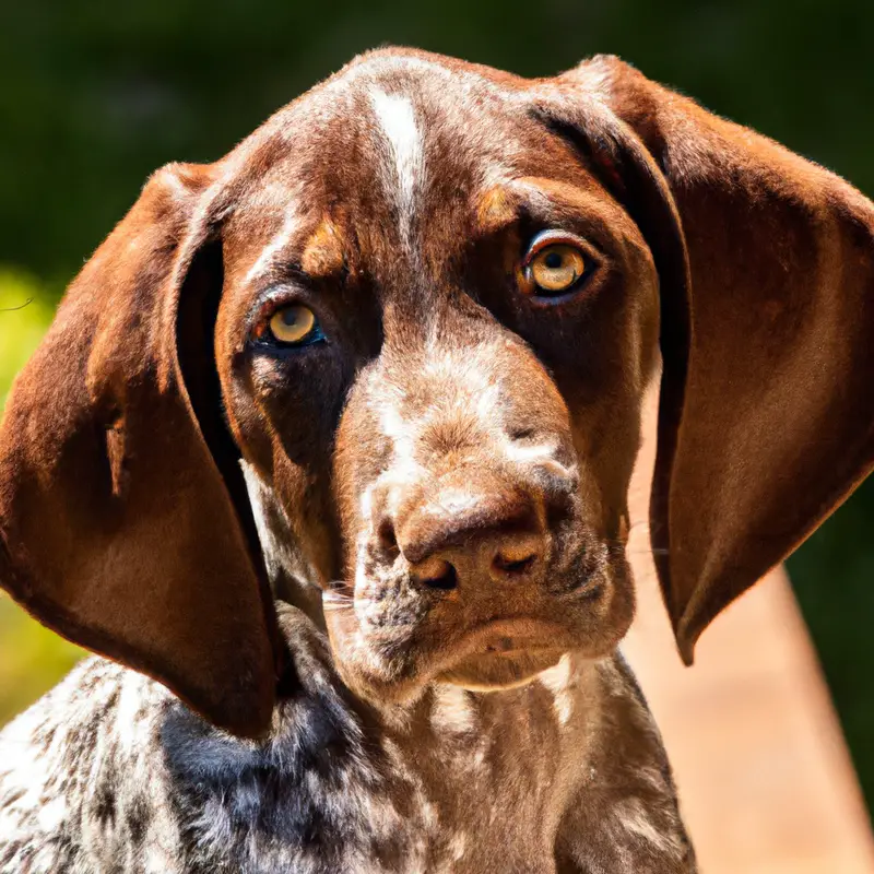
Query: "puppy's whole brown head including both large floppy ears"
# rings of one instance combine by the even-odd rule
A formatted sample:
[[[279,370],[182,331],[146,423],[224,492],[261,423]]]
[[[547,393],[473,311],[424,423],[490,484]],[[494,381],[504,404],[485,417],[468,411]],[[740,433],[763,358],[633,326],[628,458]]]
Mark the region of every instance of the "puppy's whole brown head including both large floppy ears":
[[[690,661],[871,466],[873,227],[615,59],[366,56],[156,174],[73,283],[0,435],[0,582],[243,734],[275,587],[365,695],[607,653],[661,353],[651,530]]]

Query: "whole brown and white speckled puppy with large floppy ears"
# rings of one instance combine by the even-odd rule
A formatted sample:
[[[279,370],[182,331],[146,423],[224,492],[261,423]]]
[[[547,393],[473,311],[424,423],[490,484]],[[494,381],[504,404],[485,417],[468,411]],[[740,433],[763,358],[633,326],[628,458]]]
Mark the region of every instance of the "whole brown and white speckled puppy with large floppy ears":
[[[379,50],[158,170],[0,432],[0,582],[103,657],[2,733],[0,872],[694,872],[641,399],[692,663],[872,468],[873,231],[612,57]]]

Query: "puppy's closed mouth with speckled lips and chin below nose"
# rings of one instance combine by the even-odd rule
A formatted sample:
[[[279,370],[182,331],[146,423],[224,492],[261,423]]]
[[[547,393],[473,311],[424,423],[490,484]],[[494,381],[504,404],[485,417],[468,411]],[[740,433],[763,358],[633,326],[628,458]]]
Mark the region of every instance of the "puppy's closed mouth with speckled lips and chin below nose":
[[[532,591],[522,610],[428,603],[398,587],[379,593],[334,587],[322,595],[334,660],[345,683],[376,701],[402,701],[433,682],[474,690],[523,685],[566,652],[601,658],[630,624],[624,562],[570,591]],[[479,607],[479,609],[477,609]]]

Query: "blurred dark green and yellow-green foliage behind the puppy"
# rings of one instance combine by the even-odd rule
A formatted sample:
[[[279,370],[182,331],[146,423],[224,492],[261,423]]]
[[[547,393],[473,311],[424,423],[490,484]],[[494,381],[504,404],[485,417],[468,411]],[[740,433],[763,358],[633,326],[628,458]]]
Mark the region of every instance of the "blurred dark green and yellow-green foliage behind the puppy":
[[[0,265],[11,303],[36,303],[0,314],[0,393],[151,170],[220,156],[357,51],[416,45],[530,75],[616,52],[874,194],[872,33],[871,0],[7,2]],[[869,482],[789,563],[870,802],[873,521]],[[69,664],[50,641],[0,600],[0,721]]]

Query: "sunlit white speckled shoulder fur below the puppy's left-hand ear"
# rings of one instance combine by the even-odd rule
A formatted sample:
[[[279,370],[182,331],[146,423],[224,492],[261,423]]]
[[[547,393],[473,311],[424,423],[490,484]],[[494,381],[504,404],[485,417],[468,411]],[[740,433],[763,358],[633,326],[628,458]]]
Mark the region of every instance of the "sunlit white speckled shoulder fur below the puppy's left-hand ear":
[[[11,722],[0,733],[0,872],[174,874],[178,834],[155,753],[175,706],[158,684],[93,658]]]

